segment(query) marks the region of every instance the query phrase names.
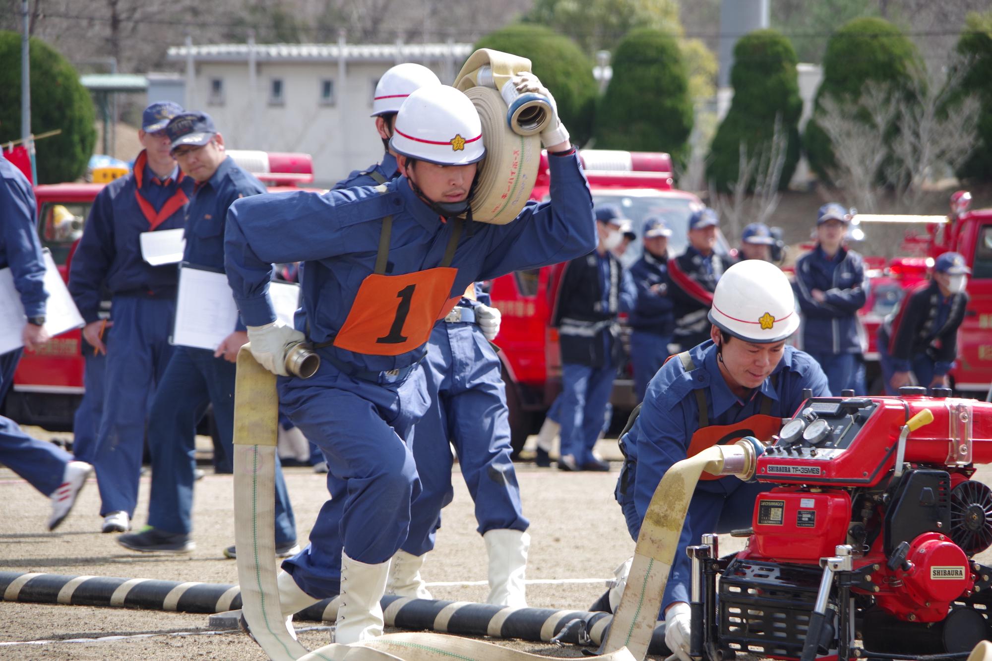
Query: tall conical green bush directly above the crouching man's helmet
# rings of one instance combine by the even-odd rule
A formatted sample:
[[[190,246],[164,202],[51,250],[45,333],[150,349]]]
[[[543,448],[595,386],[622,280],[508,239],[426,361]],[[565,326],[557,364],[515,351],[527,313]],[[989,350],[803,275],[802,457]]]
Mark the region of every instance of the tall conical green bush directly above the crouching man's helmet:
[[[757,30],[737,42],[730,71],[734,98],[713,137],[706,166],[706,180],[718,190],[726,191],[737,181],[741,143],[749,157],[770,149],[777,116],[789,140],[778,186],[789,185],[800,159],[803,100],[797,64],[792,43],[775,30]]]

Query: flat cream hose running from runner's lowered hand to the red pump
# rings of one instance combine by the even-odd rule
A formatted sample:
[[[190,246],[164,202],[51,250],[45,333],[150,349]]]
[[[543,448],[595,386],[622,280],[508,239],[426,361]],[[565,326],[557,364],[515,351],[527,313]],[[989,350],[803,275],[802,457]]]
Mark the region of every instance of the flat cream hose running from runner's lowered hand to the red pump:
[[[436,633],[392,633],[353,645],[331,644],[310,652],[292,635],[276,585],[275,469],[279,401],[276,377],[256,362],[248,344],[238,353],[234,391],[234,540],[242,613],[256,642],[273,661],[439,661],[468,658],[525,661],[546,658]],[[754,474],[756,444],[713,446],[676,463],[651,499],[634,550],[627,589],[613,617],[599,661],[644,659],[661,608],[682,521],[700,473]]]

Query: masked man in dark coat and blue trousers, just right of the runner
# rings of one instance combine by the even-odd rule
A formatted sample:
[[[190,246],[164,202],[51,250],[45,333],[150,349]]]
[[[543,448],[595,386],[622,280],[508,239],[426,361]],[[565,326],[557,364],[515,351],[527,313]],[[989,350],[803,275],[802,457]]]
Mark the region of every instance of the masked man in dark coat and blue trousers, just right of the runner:
[[[630,229],[630,220],[613,204],[596,206],[596,249],[568,262],[561,274],[553,324],[561,349],[562,470],[609,470],[592,454],[623,364],[617,315],[637,300],[630,273],[613,250]]]

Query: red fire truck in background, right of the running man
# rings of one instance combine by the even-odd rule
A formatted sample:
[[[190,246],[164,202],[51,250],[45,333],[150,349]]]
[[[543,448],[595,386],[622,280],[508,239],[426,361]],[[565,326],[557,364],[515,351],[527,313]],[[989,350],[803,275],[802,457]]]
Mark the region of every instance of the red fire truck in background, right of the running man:
[[[672,228],[669,250],[677,255],[687,242],[688,217],[702,204],[691,193],[672,187],[672,159],[664,153],[583,150],[580,153],[595,203],[617,204],[639,230],[649,215],[661,215]],[[546,199],[550,179],[547,157],[542,157],[532,198]],[[717,250],[728,246],[719,236]],[[623,255],[628,266],[640,257],[640,241]],[[561,390],[558,330],[551,327],[562,265],[518,271],[492,282],[493,305],[503,313],[496,344],[501,348],[503,379],[515,452],[523,448],[541,415]],[[629,368],[614,382],[611,397],[618,412],[636,406]]]

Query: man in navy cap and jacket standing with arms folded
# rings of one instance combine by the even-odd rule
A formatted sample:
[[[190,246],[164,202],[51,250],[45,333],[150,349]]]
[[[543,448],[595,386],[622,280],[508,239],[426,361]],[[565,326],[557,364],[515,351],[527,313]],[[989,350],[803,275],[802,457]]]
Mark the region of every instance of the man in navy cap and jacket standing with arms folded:
[[[865,304],[861,255],[843,245],[851,216],[836,202],[816,213],[816,247],[796,263],[796,299],[803,312],[803,348],[826,372],[830,392],[853,388],[863,330],[857,312]]]

